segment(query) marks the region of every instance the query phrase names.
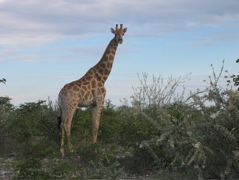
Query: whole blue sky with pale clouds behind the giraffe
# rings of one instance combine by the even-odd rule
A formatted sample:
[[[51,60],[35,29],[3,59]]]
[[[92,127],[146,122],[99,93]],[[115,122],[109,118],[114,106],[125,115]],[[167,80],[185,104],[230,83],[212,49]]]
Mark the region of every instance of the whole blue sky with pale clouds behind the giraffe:
[[[238,7],[238,0],[0,0],[0,79],[7,79],[0,96],[16,106],[56,100],[100,60],[115,24],[128,30],[106,99],[129,99],[142,72],[166,79],[191,72],[186,88],[203,88],[211,64],[219,71],[225,60],[238,73]]]

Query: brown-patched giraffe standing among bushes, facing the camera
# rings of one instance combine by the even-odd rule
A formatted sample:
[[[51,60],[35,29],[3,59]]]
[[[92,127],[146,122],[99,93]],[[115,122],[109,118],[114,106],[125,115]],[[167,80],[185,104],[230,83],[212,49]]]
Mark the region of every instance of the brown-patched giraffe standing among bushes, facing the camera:
[[[123,29],[123,25],[116,24],[116,28],[111,28],[111,32],[115,35],[108,44],[101,60],[86,74],[73,82],[66,84],[58,96],[58,104],[61,115],[58,117],[59,125],[62,129],[60,153],[64,158],[64,139],[65,134],[70,152],[73,152],[70,140],[72,117],[76,108],[92,106],[92,143],[97,141],[97,134],[100,124],[100,115],[104,106],[104,98],[106,89],[104,84],[111,72],[115,53],[118,44],[123,43],[123,35],[127,28]]]

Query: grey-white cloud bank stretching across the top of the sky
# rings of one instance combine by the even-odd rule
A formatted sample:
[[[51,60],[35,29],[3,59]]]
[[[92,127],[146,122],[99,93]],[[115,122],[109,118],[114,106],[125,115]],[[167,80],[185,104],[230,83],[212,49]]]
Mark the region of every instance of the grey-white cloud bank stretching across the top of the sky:
[[[205,25],[220,27],[239,18],[236,7],[237,0],[2,1],[0,43],[47,43],[102,33],[115,23],[129,26],[131,36],[133,32],[160,36]]]

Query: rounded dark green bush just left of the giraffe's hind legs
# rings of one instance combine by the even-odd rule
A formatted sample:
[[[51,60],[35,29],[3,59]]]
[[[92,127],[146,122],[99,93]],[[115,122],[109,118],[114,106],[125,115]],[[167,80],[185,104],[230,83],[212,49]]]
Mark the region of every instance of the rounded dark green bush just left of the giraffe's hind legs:
[[[12,113],[9,132],[19,142],[28,142],[32,138],[58,136],[57,113],[45,101],[21,104]]]

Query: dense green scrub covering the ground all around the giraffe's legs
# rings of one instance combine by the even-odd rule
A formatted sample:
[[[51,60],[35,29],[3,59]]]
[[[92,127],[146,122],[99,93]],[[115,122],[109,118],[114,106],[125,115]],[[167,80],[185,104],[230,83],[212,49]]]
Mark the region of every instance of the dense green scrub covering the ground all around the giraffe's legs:
[[[212,66],[213,67],[213,66]],[[1,156],[15,153],[16,179],[239,178],[239,96],[220,86],[223,67],[207,87],[185,97],[189,75],[167,81],[139,76],[130,105],[107,101],[98,142],[90,144],[91,109],[77,109],[72,125],[74,153],[60,159],[58,107],[52,101],[14,107],[0,98]],[[234,82],[236,80],[233,80]],[[180,89],[178,94],[178,89]]]

